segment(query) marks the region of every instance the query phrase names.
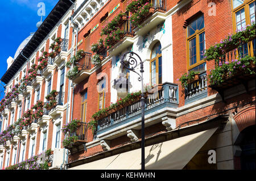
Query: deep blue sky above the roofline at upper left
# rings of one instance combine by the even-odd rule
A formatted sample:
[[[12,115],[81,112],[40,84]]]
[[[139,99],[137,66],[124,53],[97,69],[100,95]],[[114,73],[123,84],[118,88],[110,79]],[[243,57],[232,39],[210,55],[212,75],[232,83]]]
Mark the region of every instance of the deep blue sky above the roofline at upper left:
[[[9,56],[14,57],[16,49],[30,32],[37,30],[36,23],[40,21],[38,16],[38,3],[43,2],[46,5],[46,16],[58,0],[5,0],[0,8],[0,78],[7,70],[6,60]],[[3,84],[3,82],[1,82]],[[0,85],[0,100],[3,97],[3,86]]]

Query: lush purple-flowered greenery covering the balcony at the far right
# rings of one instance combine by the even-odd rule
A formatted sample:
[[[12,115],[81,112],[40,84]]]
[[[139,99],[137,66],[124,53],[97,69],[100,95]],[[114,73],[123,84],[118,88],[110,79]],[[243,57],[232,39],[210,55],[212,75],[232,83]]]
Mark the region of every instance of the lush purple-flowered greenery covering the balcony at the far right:
[[[255,23],[242,28],[241,31],[236,32],[234,35],[230,34],[224,40],[221,40],[220,43],[214,44],[205,51],[205,60],[215,61],[215,68],[210,70],[208,74],[210,87],[220,88],[219,86],[221,86],[222,83],[226,82],[228,79],[236,78],[237,76],[242,76],[243,78],[255,76],[255,56],[243,56],[241,54],[243,44],[247,46],[247,44],[250,44],[250,41],[254,39]],[[250,47],[253,48],[252,46],[249,46],[249,48]],[[233,52],[237,52],[236,56],[228,60],[226,54]],[[231,81],[231,83],[234,82],[237,81]]]

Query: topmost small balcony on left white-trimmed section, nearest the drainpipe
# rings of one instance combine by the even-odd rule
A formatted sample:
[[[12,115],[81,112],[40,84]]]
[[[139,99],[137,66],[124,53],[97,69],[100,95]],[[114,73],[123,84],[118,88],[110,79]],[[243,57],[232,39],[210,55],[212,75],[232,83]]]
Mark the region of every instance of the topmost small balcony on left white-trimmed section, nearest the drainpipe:
[[[59,54],[54,58],[53,64],[62,65],[68,56],[68,39],[62,39],[60,43]]]

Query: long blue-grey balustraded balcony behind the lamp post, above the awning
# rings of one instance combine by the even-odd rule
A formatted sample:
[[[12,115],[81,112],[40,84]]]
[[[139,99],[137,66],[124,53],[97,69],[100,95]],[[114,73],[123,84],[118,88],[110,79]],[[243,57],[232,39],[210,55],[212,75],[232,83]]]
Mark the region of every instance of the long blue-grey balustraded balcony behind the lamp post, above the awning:
[[[177,84],[166,82],[158,86],[158,91],[155,91],[154,94],[147,95],[144,109],[145,123],[147,126],[162,122],[162,117],[167,116],[166,108],[176,108],[178,106],[179,91],[177,89]],[[97,137],[111,140],[127,134],[126,129],[128,128],[139,129],[141,124],[141,110],[141,100],[137,100],[99,119]]]

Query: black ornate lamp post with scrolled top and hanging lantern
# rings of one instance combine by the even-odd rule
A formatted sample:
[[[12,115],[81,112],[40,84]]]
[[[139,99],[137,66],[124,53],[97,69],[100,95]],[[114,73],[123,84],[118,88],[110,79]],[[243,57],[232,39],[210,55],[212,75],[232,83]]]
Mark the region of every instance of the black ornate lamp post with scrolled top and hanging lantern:
[[[137,58],[139,62],[137,61]],[[137,73],[135,71],[135,68],[138,64],[141,64],[141,74]],[[142,107],[142,116],[141,116],[141,170],[145,170],[145,133],[144,133],[144,106],[145,106],[145,98],[144,98],[144,90],[143,90],[143,62],[141,60],[141,57],[137,53],[134,52],[126,52],[121,57],[121,70],[123,75],[123,68],[126,68],[127,70],[133,71],[134,73],[138,74],[138,81],[141,82],[142,86],[142,94],[141,94],[141,107]],[[122,77],[123,79],[123,77]],[[118,80],[120,83],[126,82],[126,87],[129,86],[128,81],[121,81],[121,78]],[[117,82],[118,82],[117,81]],[[120,86],[115,86],[115,89]],[[123,87],[123,86],[121,86]]]

